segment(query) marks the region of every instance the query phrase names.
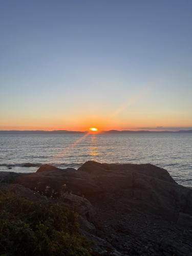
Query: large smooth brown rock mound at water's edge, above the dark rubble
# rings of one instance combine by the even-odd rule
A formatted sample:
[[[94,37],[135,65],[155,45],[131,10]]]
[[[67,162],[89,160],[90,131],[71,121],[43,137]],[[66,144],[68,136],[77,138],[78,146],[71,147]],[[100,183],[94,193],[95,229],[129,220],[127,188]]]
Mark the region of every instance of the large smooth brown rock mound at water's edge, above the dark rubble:
[[[65,186],[64,192],[84,196],[97,207],[108,204],[122,212],[134,209],[175,222],[179,212],[192,214],[192,190],[178,185],[166,170],[151,164],[88,161],[77,171],[42,165],[36,173],[4,174],[3,179],[52,197],[59,197]]]

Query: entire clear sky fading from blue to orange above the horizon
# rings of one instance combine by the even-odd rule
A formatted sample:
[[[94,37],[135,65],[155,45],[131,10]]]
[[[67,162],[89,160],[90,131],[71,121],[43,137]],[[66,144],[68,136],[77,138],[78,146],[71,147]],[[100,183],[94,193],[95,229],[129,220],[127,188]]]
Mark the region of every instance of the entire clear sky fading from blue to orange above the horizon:
[[[192,1],[0,0],[0,130],[192,127]]]

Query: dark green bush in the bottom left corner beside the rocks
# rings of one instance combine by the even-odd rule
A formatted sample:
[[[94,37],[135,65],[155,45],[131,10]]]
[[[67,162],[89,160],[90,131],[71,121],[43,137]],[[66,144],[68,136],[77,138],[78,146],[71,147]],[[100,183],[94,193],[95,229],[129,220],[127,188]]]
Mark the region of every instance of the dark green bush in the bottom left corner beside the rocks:
[[[77,215],[61,204],[33,202],[15,193],[0,194],[0,255],[87,256]]]

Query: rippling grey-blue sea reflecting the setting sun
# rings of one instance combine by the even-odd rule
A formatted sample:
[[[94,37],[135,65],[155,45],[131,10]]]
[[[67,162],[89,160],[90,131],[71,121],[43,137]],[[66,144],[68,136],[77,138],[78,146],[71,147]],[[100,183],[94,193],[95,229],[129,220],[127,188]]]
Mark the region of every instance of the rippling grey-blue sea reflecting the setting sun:
[[[0,134],[0,170],[35,172],[49,163],[78,168],[88,160],[152,163],[192,186],[192,134]],[[35,166],[26,167],[25,163]],[[12,166],[12,169],[8,169]]]

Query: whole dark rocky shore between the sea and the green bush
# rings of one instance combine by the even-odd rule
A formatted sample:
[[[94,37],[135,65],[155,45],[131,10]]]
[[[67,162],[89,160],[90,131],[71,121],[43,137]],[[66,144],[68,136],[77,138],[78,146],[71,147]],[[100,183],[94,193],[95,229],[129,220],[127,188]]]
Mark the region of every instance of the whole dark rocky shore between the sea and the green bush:
[[[151,164],[41,165],[0,173],[0,190],[78,212],[92,255],[192,255],[192,190]]]

